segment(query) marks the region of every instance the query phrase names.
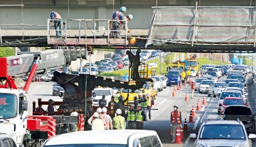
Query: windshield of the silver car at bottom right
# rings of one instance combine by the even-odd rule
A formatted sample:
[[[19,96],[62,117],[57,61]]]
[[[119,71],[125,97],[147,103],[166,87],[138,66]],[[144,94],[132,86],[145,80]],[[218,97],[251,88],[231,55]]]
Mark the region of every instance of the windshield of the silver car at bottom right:
[[[199,139],[246,140],[246,137],[241,125],[210,124],[202,127]]]

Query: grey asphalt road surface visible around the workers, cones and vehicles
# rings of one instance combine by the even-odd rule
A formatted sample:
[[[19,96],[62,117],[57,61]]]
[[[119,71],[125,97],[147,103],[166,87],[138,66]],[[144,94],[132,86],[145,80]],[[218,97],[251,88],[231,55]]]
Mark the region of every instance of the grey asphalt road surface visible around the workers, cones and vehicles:
[[[191,80],[195,78],[191,78]],[[223,79],[220,78],[219,80]],[[188,80],[189,81],[189,80]],[[163,89],[163,91],[158,93],[158,96],[155,100],[155,105],[151,111],[151,120],[148,120],[144,123],[144,129],[155,130],[163,143],[163,147],[193,147],[195,139],[189,138],[189,134],[198,132],[198,129],[203,121],[209,120],[220,120],[220,115],[217,115],[217,98],[209,97],[206,93],[199,94],[198,91],[195,91],[194,99],[189,101],[185,100],[186,92],[190,97],[190,85],[184,86],[182,84],[182,89],[175,92],[175,96],[172,96],[173,86]],[[52,87],[53,82],[40,82],[32,83],[28,89],[28,114],[32,115],[32,102],[36,101],[37,98],[42,98],[42,101],[48,101],[53,99],[54,101],[62,101],[59,96],[52,96]],[[249,85],[247,85],[249,87]],[[195,111],[196,117],[194,117],[194,123],[189,122],[189,115],[192,106],[197,105],[198,99],[200,99],[202,104],[203,96],[206,97],[207,105],[202,105],[201,111]],[[249,97],[251,99],[253,97]],[[182,124],[184,124],[185,118],[187,119],[189,131],[185,131],[185,139],[182,140],[182,144],[171,144],[171,135],[170,135],[170,112],[173,111],[173,106],[175,104],[179,105],[179,111],[182,112]],[[255,104],[250,104],[255,107]],[[43,105],[43,109],[46,109],[47,105]],[[57,107],[56,107],[57,108]],[[253,146],[256,146],[256,139],[252,140]]]

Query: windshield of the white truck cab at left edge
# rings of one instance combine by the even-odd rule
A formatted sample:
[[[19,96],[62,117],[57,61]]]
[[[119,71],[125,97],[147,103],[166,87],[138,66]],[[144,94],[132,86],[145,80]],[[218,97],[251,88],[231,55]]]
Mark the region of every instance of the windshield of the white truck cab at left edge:
[[[14,118],[17,115],[17,96],[8,93],[0,95],[0,118]]]

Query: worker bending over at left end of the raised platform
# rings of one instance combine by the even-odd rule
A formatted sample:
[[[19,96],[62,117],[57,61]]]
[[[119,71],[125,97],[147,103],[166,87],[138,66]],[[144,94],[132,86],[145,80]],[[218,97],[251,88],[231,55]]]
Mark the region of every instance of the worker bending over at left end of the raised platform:
[[[54,30],[56,32],[56,37],[57,38],[62,38],[62,24],[63,24],[63,19],[61,18],[61,15],[58,12],[53,11],[50,14],[51,19],[54,20],[50,20],[49,24],[51,24],[54,21]]]

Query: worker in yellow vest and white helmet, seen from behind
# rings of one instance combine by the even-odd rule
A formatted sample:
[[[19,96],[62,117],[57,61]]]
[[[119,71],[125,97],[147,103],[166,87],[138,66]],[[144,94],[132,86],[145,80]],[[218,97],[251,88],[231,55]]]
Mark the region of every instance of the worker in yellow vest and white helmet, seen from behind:
[[[116,110],[116,116],[113,118],[114,129],[124,130],[126,127],[125,118],[121,116],[121,113],[121,109]]]

